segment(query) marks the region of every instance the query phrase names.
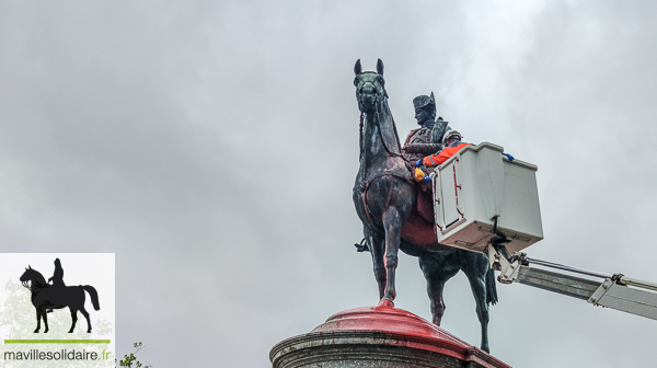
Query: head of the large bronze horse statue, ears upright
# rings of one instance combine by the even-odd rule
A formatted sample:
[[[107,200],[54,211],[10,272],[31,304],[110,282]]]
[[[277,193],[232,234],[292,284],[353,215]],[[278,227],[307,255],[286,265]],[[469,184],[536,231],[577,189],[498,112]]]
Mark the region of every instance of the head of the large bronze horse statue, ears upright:
[[[383,61],[377,61],[377,72],[362,71],[360,59],[356,61],[354,67],[356,78],[356,99],[358,100],[358,108],[361,113],[370,113],[377,108],[377,103],[383,99],[388,99],[385,92],[385,81],[383,80]]]

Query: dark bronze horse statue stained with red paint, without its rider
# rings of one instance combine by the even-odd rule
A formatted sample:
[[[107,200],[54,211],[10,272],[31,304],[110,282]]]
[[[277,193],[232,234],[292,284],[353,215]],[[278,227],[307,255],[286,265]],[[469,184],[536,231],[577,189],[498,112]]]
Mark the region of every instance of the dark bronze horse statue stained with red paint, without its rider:
[[[379,304],[393,306],[396,296],[394,275],[397,253],[417,256],[427,280],[434,323],[440,325],[445,313],[445,283],[459,271],[468,276],[476,301],[482,329],[481,348],[488,347],[488,304],[497,302],[495,276],[483,253],[438,244],[434,223],[416,210],[417,187],[410,163],[402,157],[400,139],[388,106],[383,62],[377,72],[362,71],[360,60],[354,68],[356,97],[360,110],[360,168],[354,185],[354,204],[362,221],[366,244],[379,284]]]

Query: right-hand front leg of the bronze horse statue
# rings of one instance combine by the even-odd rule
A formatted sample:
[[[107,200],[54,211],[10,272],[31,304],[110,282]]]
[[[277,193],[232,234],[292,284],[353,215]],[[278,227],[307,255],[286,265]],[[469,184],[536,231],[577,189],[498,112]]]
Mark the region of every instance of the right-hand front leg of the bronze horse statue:
[[[383,212],[383,228],[385,230],[385,290],[383,298],[393,301],[396,297],[394,288],[394,274],[399,262],[400,240],[402,235],[402,217],[394,207],[388,207]]]

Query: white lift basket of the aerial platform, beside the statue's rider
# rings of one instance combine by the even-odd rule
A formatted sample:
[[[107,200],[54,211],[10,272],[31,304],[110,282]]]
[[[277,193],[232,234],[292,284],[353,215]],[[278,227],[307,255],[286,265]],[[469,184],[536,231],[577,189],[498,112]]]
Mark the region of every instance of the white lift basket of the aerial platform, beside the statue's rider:
[[[508,239],[509,252],[543,239],[537,189],[538,168],[509,161],[504,148],[483,142],[468,146],[431,174],[438,242],[483,251],[497,228]]]

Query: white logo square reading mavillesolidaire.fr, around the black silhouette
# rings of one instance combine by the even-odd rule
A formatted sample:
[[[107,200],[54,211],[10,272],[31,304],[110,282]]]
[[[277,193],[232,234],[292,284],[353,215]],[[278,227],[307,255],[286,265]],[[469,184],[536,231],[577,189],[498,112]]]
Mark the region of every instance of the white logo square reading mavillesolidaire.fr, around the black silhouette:
[[[54,276],[56,258],[60,260],[67,287],[90,285],[97,292],[96,311],[91,295],[84,291],[91,333],[80,311],[74,331],[69,333],[72,320],[68,307],[47,313],[47,333],[43,320],[39,332],[34,332],[36,309],[20,278],[25,268],[32,268],[48,280]],[[0,253],[0,367],[115,367],[114,253]]]

